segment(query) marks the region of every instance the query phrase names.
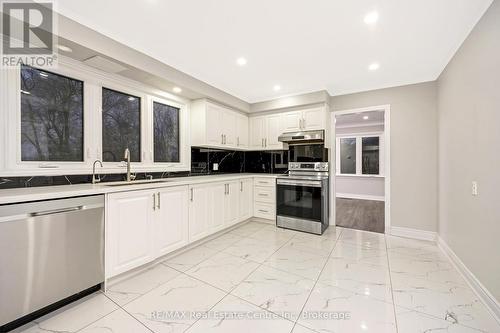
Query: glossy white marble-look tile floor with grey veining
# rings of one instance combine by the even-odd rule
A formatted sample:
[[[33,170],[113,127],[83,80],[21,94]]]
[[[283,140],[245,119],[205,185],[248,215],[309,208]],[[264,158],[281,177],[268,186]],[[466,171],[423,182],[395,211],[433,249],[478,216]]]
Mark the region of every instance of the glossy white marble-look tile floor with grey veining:
[[[17,332],[495,333],[500,326],[433,243],[249,222]]]

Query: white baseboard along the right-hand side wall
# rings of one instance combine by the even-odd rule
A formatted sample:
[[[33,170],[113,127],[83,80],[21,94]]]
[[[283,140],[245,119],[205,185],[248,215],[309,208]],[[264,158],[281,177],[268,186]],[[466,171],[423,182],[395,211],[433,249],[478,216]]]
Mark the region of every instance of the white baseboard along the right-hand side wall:
[[[486,305],[491,315],[500,323],[500,302],[486,289],[486,287],[477,279],[477,277],[465,266],[462,260],[453,252],[448,244],[438,236],[438,246],[443,250],[448,259],[462,277],[467,281],[471,289]]]

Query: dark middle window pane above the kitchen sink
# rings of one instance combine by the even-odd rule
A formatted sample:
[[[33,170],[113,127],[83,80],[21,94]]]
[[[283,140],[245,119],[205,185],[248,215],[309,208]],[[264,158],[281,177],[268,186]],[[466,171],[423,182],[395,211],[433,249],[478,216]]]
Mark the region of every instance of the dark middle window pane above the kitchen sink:
[[[102,159],[123,160],[125,149],[130,161],[141,161],[141,99],[111,89],[102,89]]]

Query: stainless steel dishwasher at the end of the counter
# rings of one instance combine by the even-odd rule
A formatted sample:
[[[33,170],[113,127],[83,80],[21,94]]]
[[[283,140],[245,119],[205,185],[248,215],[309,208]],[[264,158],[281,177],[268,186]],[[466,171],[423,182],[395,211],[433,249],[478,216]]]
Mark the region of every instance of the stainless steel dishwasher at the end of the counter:
[[[0,206],[0,332],[103,281],[103,195]]]

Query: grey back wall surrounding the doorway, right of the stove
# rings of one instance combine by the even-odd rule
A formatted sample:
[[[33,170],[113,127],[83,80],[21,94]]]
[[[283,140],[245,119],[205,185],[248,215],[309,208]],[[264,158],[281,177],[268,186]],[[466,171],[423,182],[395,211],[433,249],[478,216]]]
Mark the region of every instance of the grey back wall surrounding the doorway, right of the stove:
[[[437,231],[435,82],[334,96],[335,111],[391,106],[391,225]]]

